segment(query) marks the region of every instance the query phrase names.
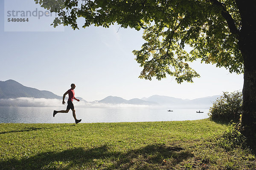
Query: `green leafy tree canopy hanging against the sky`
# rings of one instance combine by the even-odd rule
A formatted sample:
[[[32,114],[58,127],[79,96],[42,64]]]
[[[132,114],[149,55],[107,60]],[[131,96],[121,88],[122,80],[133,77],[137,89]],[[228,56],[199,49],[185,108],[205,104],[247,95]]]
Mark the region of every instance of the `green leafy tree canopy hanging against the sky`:
[[[199,77],[189,66],[197,58],[216,63],[230,72],[243,72],[238,49],[241,17],[234,0],[35,0],[42,7],[58,12],[53,26],[63,24],[79,29],[77,17],[90,25],[108,28],[144,29],[146,42],[134,50],[143,67],[140,78],[158,80],[166,74],[176,81],[192,82]],[[185,45],[193,47],[191,52]]]

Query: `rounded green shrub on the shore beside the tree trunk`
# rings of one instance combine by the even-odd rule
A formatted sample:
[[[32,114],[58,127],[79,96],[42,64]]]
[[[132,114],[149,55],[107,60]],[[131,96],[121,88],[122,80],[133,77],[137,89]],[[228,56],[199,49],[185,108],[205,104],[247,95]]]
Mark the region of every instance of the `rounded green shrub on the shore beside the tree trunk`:
[[[238,122],[242,113],[242,92],[223,92],[223,95],[213,102],[208,115],[212,121]]]

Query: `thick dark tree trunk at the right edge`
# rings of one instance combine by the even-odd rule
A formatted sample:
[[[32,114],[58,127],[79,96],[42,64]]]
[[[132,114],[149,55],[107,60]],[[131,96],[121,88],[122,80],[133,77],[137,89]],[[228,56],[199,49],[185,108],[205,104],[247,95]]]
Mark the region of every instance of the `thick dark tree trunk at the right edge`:
[[[256,140],[256,0],[236,0],[242,28],[239,49],[244,59],[243,107],[241,132]]]

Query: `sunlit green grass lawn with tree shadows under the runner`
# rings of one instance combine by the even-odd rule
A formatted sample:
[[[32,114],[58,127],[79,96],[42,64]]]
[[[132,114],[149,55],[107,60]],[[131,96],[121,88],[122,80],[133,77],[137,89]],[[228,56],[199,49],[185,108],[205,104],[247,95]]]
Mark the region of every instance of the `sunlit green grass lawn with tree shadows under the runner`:
[[[218,144],[227,128],[208,119],[0,124],[0,169],[256,169],[250,150],[225,150]]]

